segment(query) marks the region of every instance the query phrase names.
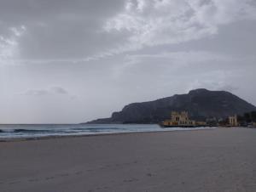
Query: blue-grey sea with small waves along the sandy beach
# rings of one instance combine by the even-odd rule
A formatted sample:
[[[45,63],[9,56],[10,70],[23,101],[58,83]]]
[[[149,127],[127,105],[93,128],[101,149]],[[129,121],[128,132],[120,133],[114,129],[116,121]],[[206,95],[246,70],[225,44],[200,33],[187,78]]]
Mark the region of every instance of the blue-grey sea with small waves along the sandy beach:
[[[109,133],[138,133],[191,131],[212,127],[169,127],[162,128],[157,124],[36,124],[36,125],[0,125],[0,140],[11,138],[44,138],[58,136],[96,135]]]

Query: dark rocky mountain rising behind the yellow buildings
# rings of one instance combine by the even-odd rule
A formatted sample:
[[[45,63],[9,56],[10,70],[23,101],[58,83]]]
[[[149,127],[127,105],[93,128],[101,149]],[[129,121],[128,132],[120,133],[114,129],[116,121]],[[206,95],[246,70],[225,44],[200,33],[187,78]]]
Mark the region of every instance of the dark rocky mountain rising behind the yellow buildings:
[[[186,110],[191,119],[205,120],[208,117],[241,115],[256,110],[256,107],[232,93],[201,88],[191,90],[188,94],[128,104],[123,110],[113,112],[110,118],[87,123],[158,123],[170,118],[172,110]]]

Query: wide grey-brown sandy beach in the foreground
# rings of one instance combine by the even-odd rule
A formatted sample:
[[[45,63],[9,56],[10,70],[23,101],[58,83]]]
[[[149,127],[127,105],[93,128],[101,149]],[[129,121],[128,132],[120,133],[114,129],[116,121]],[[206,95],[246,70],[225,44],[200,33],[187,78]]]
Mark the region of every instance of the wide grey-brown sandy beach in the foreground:
[[[256,129],[2,142],[0,191],[256,191]]]

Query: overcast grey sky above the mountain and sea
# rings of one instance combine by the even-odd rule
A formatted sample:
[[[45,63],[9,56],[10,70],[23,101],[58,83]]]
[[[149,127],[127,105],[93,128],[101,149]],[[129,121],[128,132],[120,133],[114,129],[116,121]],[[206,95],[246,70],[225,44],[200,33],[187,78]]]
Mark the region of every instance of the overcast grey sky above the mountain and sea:
[[[0,0],[0,123],[79,123],[195,88],[256,105],[255,0]]]

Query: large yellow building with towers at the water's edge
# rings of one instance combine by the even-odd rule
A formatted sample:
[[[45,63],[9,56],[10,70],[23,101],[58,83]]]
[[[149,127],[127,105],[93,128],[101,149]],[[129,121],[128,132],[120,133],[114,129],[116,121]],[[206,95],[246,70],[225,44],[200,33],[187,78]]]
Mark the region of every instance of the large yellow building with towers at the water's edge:
[[[163,127],[195,127],[195,121],[189,120],[189,114],[186,111],[178,113],[172,111],[171,119],[161,123]]]

